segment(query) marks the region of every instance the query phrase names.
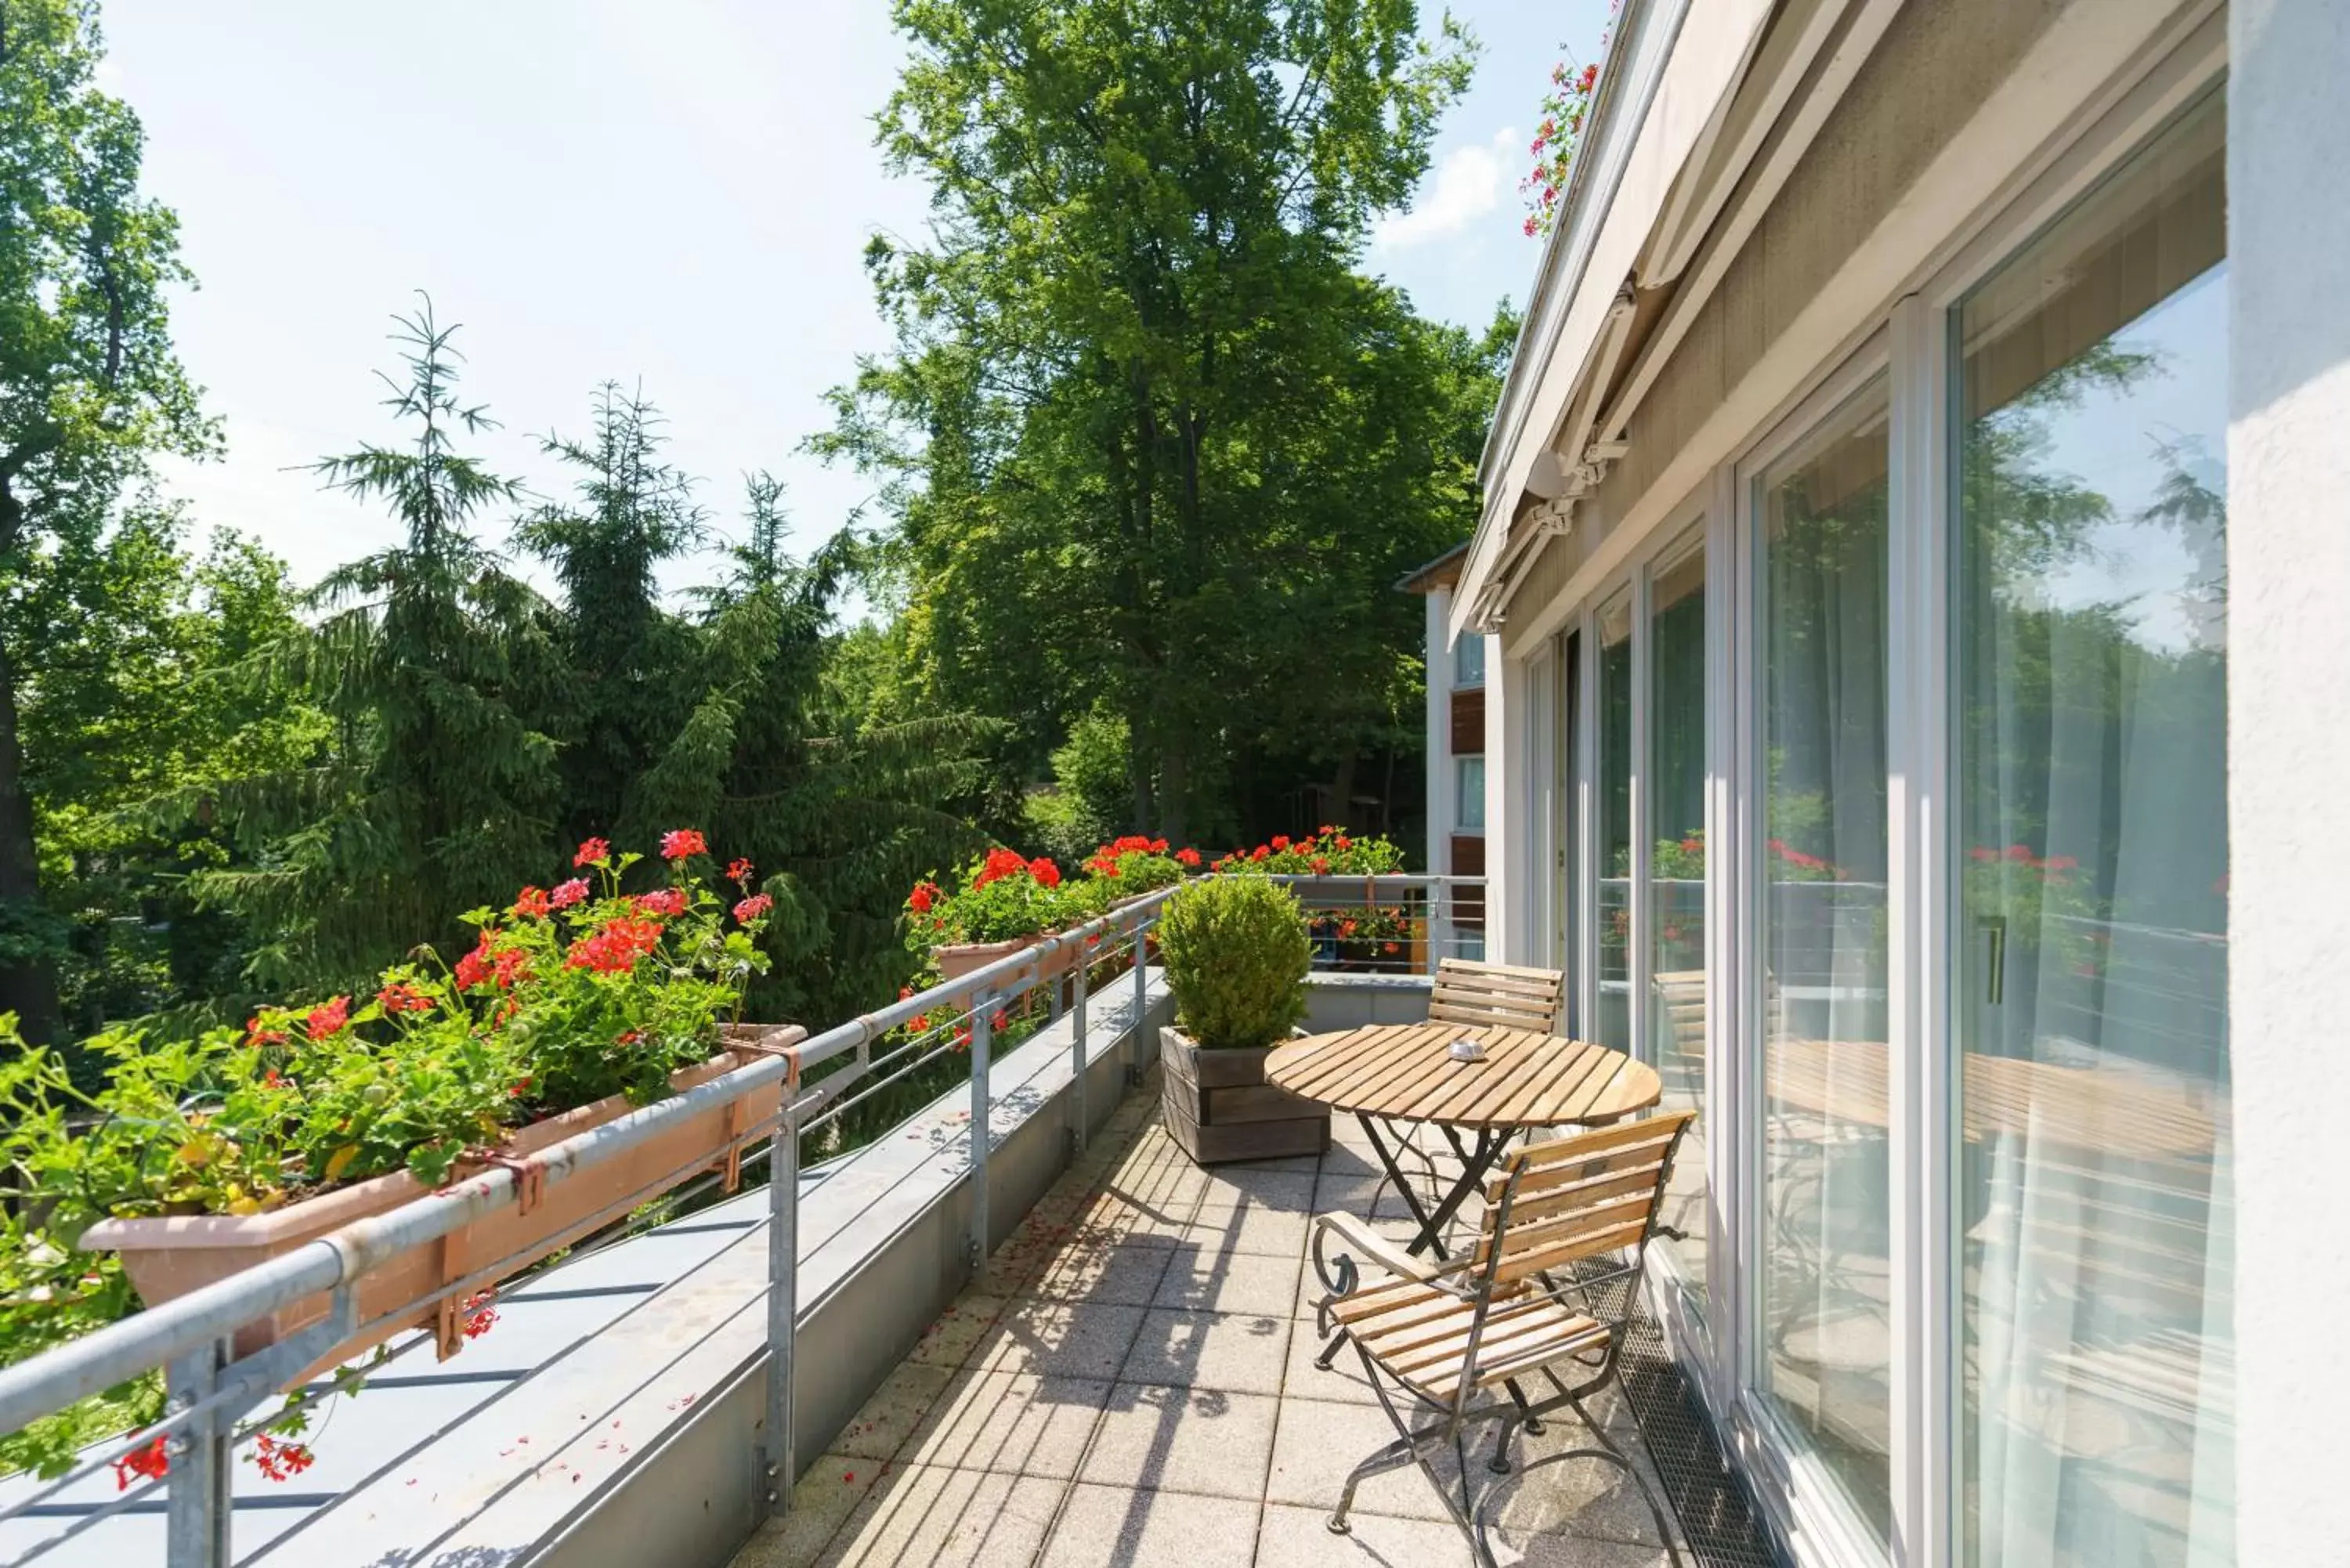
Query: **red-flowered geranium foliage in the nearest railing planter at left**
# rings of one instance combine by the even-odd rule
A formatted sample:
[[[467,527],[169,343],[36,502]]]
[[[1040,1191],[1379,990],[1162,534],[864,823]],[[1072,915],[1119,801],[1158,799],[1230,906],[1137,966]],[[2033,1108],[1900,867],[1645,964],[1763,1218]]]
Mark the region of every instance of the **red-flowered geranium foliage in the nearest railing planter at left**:
[[[136,1309],[120,1262],[80,1248],[96,1220],[263,1213],[390,1171],[437,1187],[517,1126],[667,1093],[740,1018],[773,903],[736,860],[728,907],[698,875],[700,832],[665,835],[663,858],[663,886],[625,893],[639,856],[590,839],[573,858],[585,875],[475,910],[479,938],[456,964],[418,950],[357,1004],[266,1006],[193,1039],[101,1034],[85,1044],[108,1063],[96,1093],[0,1016],[0,1166],[16,1199],[0,1222],[0,1363]],[[153,1415],[148,1385],[113,1389],[0,1439],[0,1469],[54,1474],[75,1443]],[[287,1448],[275,1469],[296,1474],[308,1450]]]

